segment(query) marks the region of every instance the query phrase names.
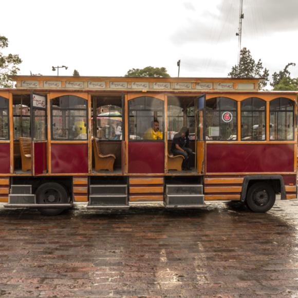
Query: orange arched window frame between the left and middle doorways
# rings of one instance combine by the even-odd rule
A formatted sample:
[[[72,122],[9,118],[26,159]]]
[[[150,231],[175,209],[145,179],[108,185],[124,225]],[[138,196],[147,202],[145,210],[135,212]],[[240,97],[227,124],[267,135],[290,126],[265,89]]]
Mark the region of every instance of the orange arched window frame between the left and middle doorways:
[[[80,98],[82,100],[84,100],[86,102],[86,108],[73,108],[73,107],[54,107],[53,108],[53,101],[57,98],[60,98],[60,97],[65,97],[65,96],[73,96],[73,97],[77,97],[77,98]],[[73,111],[73,110],[83,110],[83,111],[86,111],[86,139],[69,139],[69,138],[64,138],[64,139],[57,139],[57,138],[54,138],[53,137],[53,110],[59,110],[59,111],[63,111],[63,110],[68,110],[68,111]],[[58,96],[58,97],[55,97],[55,98],[52,98],[50,100],[50,113],[51,113],[51,140],[52,141],[69,141],[69,142],[88,142],[89,140],[89,121],[88,121],[88,100],[85,99],[85,98],[82,98],[82,97],[79,97],[77,95],[62,95],[62,96]],[[56,117],[56,116],[54,116]],[[69,119],[70,115],[68,115],[68,119]],[[74,117],[83,117],[83,116],[74,116]],[[68,131],[69,131],[69,123],[68,123]],[[68,134],[69,136],[69,134]]]

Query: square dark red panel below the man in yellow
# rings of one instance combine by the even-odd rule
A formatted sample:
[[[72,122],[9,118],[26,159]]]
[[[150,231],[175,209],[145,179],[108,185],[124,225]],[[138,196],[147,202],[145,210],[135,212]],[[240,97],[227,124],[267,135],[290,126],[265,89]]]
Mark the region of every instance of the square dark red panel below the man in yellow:
[[[128,173],[164,173],[164,142],[129,142]]]

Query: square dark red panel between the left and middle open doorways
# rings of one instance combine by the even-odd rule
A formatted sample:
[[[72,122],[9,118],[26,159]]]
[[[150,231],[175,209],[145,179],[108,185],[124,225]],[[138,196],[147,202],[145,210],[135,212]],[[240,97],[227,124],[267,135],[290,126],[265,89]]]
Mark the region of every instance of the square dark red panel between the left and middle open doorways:
[[[88,144],[51,144],[51,171],[55,174],[88,173]]]

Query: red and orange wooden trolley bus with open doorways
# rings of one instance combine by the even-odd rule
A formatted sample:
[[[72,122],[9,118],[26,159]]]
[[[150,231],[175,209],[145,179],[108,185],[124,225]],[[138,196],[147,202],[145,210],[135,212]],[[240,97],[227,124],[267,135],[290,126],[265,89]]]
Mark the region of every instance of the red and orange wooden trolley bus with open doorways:
[[[276,194],[297,197],[297,92],[258,91],[259,79],[11,79],[0,89],[5,208],[234,200],[266,212]],[[182,127],[186,157],[173,154]]]

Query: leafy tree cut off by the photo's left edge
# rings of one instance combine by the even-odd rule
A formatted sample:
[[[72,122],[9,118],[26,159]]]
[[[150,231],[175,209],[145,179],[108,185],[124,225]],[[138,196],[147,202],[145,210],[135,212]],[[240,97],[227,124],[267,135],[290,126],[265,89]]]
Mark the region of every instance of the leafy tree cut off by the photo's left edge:
[[[4,88],[12,87],[12,82],[8,76],[14,76],[20,68],[17,65],[22,63],[22,60],[16,54],[5,55],[1,49],[8,47],[8,39],[0,35],[0,86]]]

